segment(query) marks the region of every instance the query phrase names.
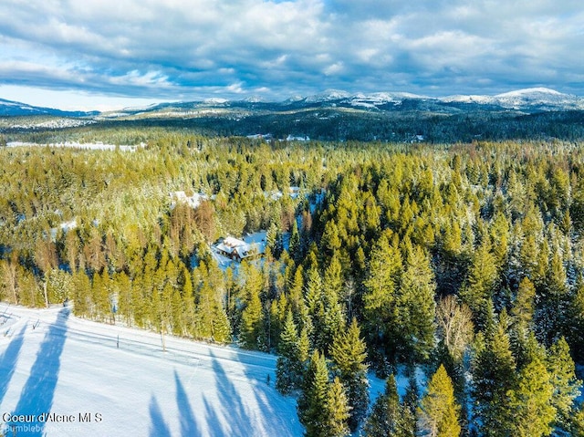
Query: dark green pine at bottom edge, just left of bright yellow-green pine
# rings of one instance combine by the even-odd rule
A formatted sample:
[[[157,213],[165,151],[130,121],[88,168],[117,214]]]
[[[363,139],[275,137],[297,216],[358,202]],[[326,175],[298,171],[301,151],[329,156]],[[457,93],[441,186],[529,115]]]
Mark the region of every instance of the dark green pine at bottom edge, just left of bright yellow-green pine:
[[[364,426],[366,437],[414,437],[412,411],[400,403],[393,373],[377,398]]]

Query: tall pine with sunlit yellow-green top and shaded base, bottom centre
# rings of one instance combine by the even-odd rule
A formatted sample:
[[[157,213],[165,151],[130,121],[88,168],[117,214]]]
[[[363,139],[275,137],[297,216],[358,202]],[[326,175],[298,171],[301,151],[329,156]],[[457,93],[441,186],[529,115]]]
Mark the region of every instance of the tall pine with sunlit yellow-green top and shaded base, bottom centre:
[[[369,407],[366,344],[360,338],[360,328],[353,318],[347,332],[335,336],[330,358],[339,369],[340,380],[347,389],[350,406],[349,428],[354,432],[365,418]]]

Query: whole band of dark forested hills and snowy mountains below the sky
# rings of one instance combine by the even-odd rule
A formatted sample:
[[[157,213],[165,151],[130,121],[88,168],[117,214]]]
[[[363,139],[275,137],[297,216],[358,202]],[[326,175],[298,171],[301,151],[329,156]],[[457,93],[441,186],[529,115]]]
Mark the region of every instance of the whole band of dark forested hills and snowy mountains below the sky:
[[[548,88],[443,98],[327,90],[283,101],[202,99],[109,112],[68,112],[0,99],[0,117],[10,115],[15,117],[0,120],[0,134],[13,141],[31,140],[26,134],[40,131],[45,131],[42,138],[60,141],[58,132],[88,124],[96,130],[156,127],[277,140],[584,139],[584,99]],[[104,139],[98,135],[94,140]]]

